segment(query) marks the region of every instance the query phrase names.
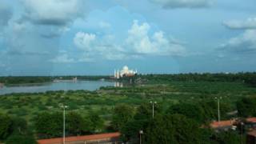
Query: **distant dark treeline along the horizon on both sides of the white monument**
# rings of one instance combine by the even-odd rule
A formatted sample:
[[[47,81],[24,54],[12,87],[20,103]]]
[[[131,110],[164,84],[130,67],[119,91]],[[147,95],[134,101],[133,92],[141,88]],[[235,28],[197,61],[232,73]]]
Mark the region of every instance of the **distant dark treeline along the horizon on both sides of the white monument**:
[[[112,80],[110,76],[9,76],[0,77],[0,82],[8,84],[22,84],[22,83],[42,83],[53,82],[54,79],[59,80],[71,80],[72,78],[78,78],[78,80],[98,81],[101,79]],[[245,82],[250,86],[256,86],[256,73],[237,73],[237,74],[138,74],[134,77],[125,77],[119,79],[121,82],[170,82],[170,81],[193,81],[193,82]]]

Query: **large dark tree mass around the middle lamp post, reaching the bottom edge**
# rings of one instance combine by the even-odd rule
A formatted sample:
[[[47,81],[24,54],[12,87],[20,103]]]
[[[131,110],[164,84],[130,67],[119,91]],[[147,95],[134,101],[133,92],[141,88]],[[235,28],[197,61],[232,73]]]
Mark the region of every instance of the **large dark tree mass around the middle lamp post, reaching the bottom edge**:
[[[140,130],[143,131],[143,143],[239,143],[240,138],[236,132],[218,134],[202,128],[207,123],[204,118],[216,118],[216,103],[201,104],[179,104],[170,106],[167,110],[156,105],[154,118],[149,103],[144,103],[137,109],[120,104],[114,108],[112,126],[122,132],[123,141],[130,143],[138,143]],[[203,108],[206,109],[200,110]]]

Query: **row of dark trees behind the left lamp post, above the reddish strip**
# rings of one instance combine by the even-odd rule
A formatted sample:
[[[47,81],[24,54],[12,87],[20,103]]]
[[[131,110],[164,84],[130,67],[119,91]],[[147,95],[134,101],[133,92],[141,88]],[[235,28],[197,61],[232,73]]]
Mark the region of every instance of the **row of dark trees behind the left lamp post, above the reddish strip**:
[[[38,114],[34,122],[38,138],[56,138],[62,136],[63,115],[59,112]],[[84,135],[101,132],[104,126],[102,118],[91,112],[84,118],[81,114],[66,114],[66,135]]]

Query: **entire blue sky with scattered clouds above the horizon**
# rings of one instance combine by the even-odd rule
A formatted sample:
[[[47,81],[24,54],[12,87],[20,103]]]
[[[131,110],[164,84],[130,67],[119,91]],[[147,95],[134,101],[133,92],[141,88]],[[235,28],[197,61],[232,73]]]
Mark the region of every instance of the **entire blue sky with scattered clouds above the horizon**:
[[[256,70],[255,0],[0,0],[0,75]]]

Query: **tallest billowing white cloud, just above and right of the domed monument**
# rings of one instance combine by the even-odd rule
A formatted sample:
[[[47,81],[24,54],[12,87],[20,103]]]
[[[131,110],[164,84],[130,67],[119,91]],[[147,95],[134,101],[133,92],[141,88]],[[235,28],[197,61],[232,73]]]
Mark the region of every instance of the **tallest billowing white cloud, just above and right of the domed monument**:
[[[185,54],[185,47],[178,43],[171,42],[166,38],[162,31],[149,34],[150,25],[146,22],[142,25],[134,21],[133,26],[128,30],[126,39],[127,47],[138,54],[164,54],[164,55],[182,55]]]

